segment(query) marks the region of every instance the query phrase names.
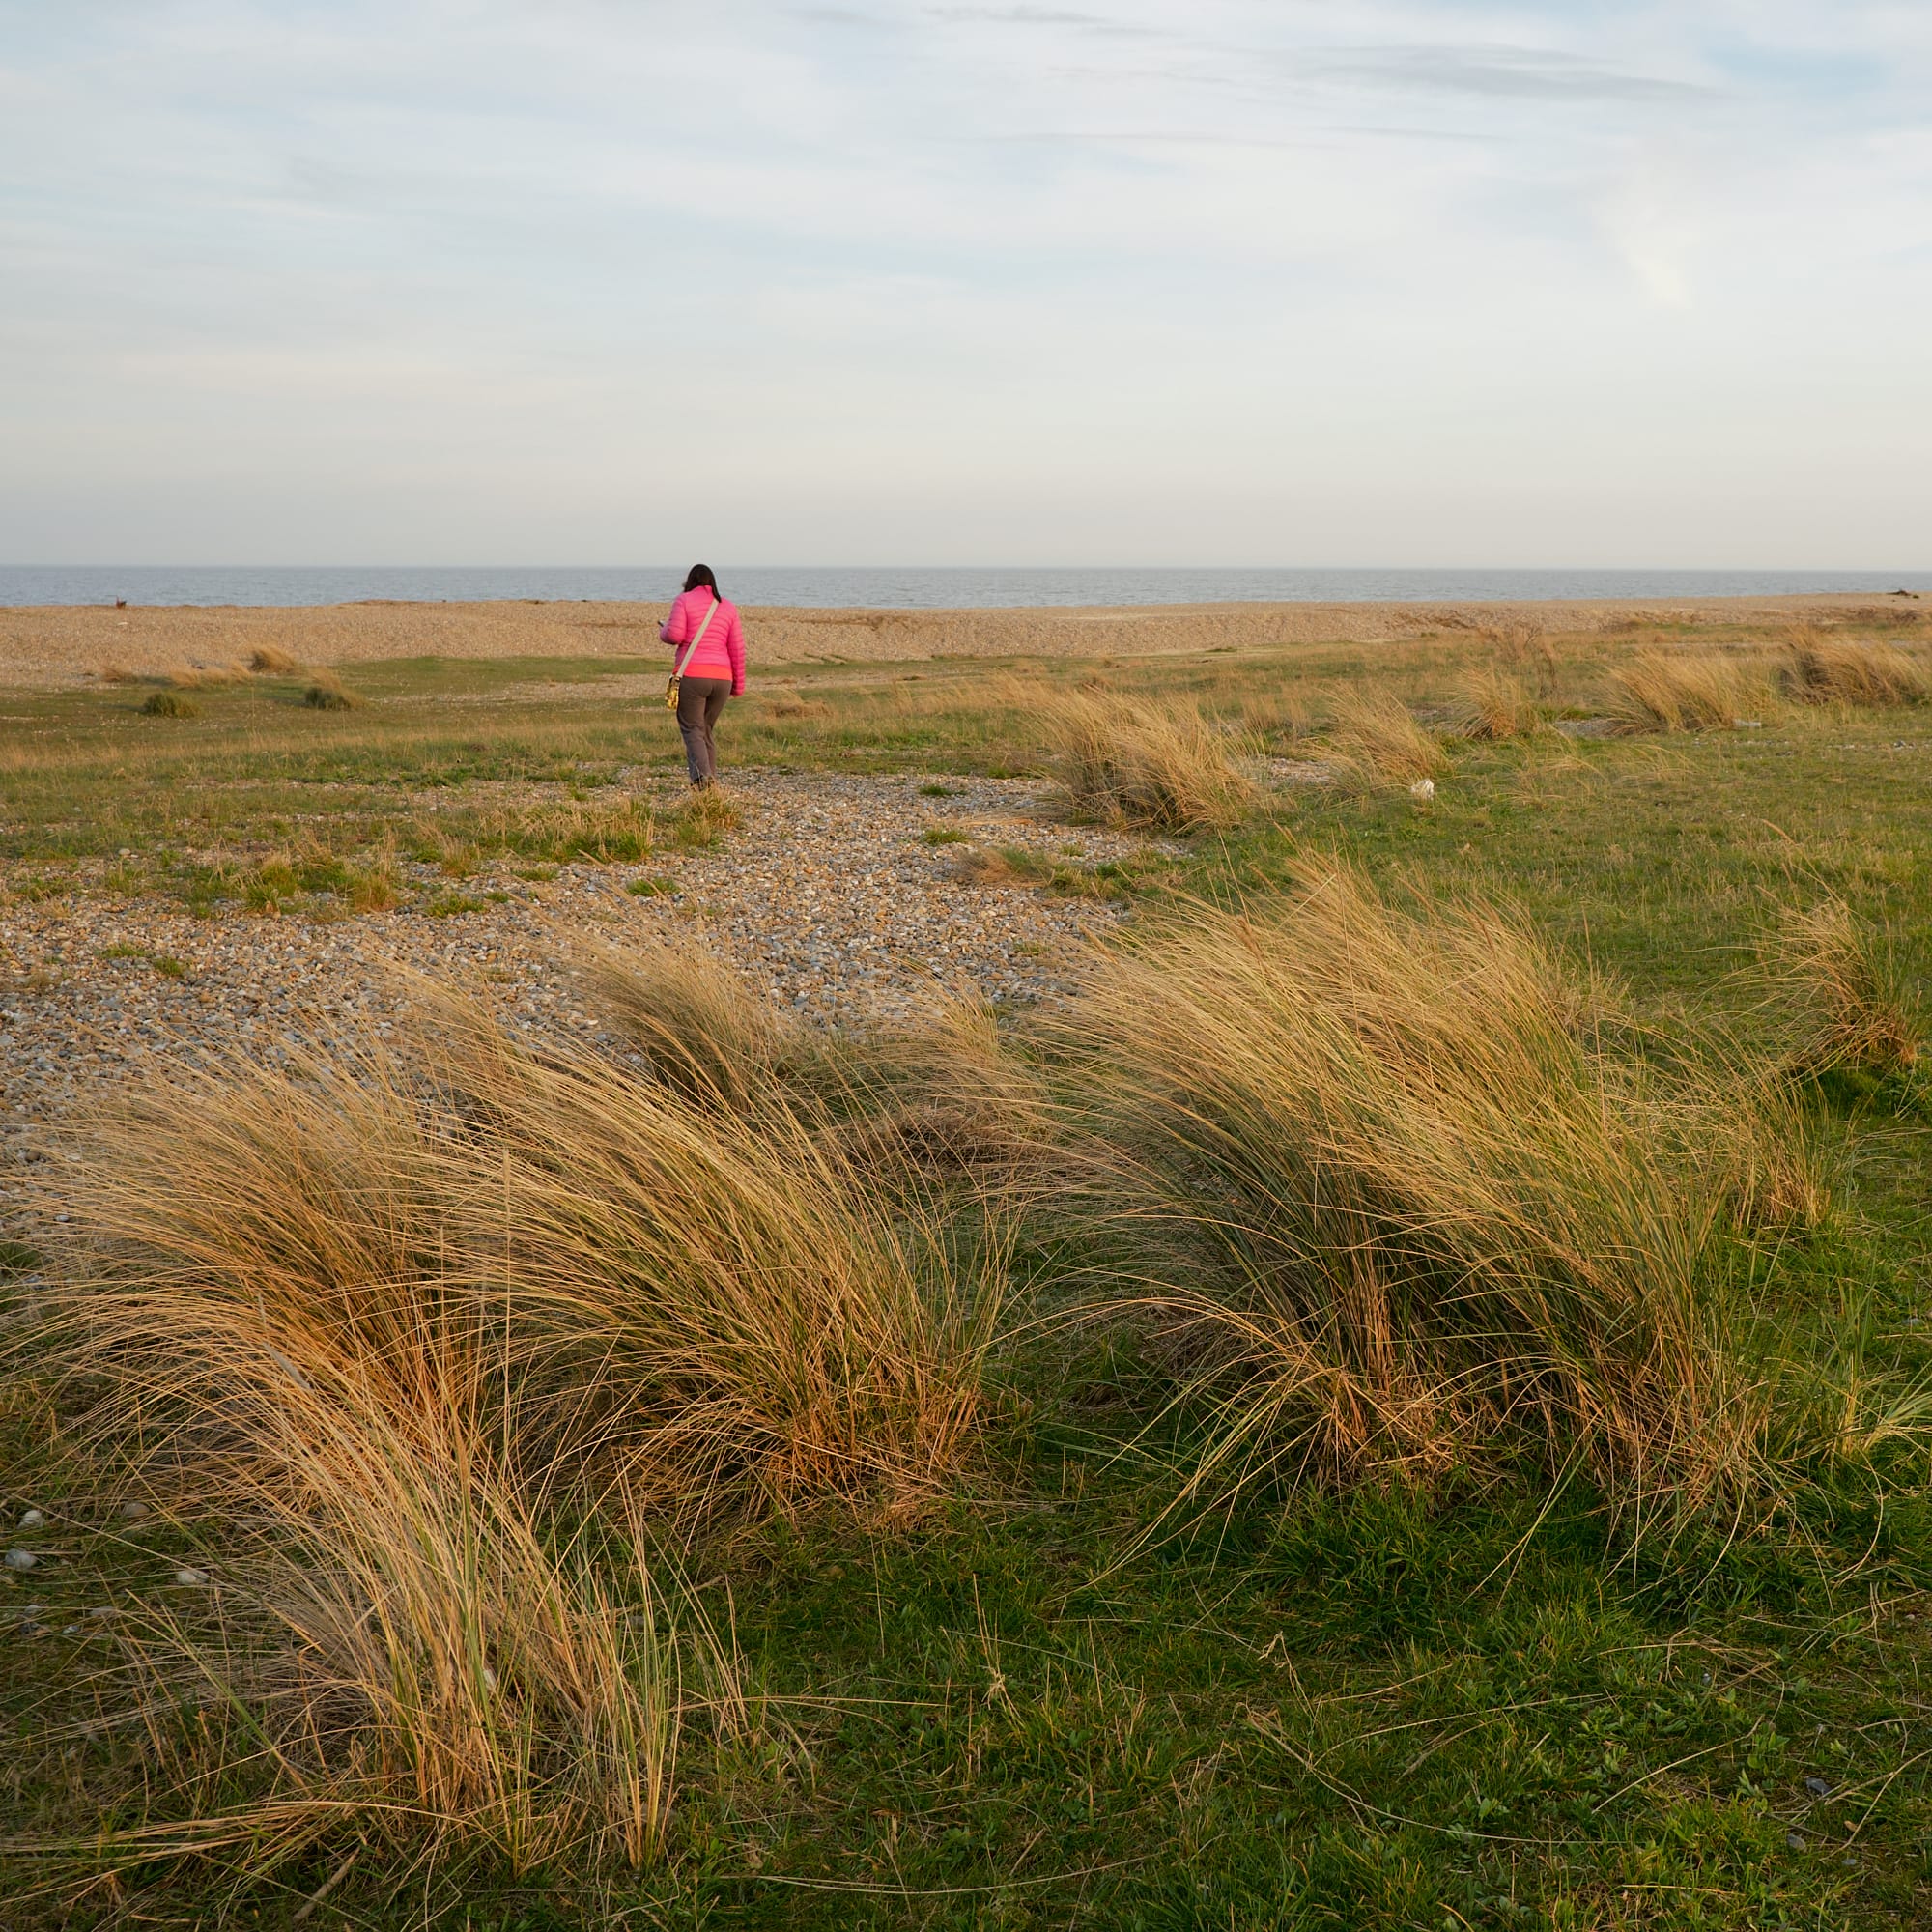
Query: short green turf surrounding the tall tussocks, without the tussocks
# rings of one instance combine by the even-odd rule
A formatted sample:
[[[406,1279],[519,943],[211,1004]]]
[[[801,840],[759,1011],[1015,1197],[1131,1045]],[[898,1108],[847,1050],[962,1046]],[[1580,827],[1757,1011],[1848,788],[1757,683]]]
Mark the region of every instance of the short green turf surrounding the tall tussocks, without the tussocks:
[[[1540,701],[1600,715],[1602,661],[1667,639],[1660,628],[1592,645]],[[1381,655],[995,670],[1103,676],[1308,757],[1339,680],[1372,668],[1428,717],[1478,655],[1449,636]],[[781,717],[753,682],[726,713],[726,761],[1043,769],[1026,707],[987,667],[922,670],[906,686],[891,667],[786,667],[811,709]],[[226,916],[249,889],[292,904],[340,896],[386,842],[423,867],[502,856],[541,877],[566,856],[558,813],[614,804],[620,773],[674,750],[651,707],[601,696],[636,674],[634,659],[365,665],[354,713],[303,709],[294,680],[197,692],[201,715],[166,726],[126,690],[27,696],[17,709],[33,723],[0,753],[6,885],[27,900],[106,889],[85,867],[116,860],[124,889]],[[1312,748],[1300,723],[1269,724],[1300,713]],[[502,781],[553,788],[549,815],[504,829],[487,796]],[[937,779],[922,792],[952,796]],[[668,813],[649,833],[672,846],[705,837],[703,819]],[[1281,889],[1310,852],[1335,854],[1399,900],[1505,896],[1621,989],[1656,1051],[1692,1022],[1756,1037],[1772,1022],[1750,968],[1783,906],[1841,896],[1882,922],[1924,999],[1932,719],[1772,707],[1760,730],[1669,744],[1464,744],[1426,808],[1406,792],[1296,786],[1184,850],[1113,871],[1018,848],[1005,860],[1041,889],[1233,902]],[[450,914],[489,902],[448,869],[415,891]],[[1837,1167],[1833,1213],[1810,1238],[1739,1244],[1741,1281],[1779,1320],[1839,1337],[1870,1374],[1932,1372],[1922,1076],[1833,1070],[1804,1107]],[[1095,1256],[1047,1213],[1014,1260],[1051,1306]],[[31,1293],[19,1283],[37,1265],[29,1246],[0,1246],[0,1310]],[[1781,1536],[1669,1561],[1619,1561],[1588,1488],[1551,1495],[1532,1470],[1426,1503],[1258,1488],[1150,1538],[1204,1428],[1175,1410],[1146,1434],[1171,1393],[1132,1335],[1036,1333],[1003,1362],[981,1463],[937,1520],[881,1532],[808,1519],[707,1551],[692,1575],[719,1623],[734,1621],[779,1721],[755,1745],[692,1752],[661,1868],[477,1864],[415,1874],[400,1893],[392,1872],[357,1864],[303,1922],[1932,1922],[1932,1503],[1909,1455],[1884,1484],[1820,1472]],[[85,1839],[102,1810],[135,1816],[156,1762],[128,1731],[75,1729],[112,1654],[81,1611],[162,1592],[220,1499],[184,1499],[195,1540],[160,1517],[126,1524],[70,1497],[62,1447],[54,1391],[15,1378],[0,1399],[0,1501],[8,1522],[27,1503],[50,1511],[41,1542],[58,1561],[0,1575],[0,1814],[6,1833]],[[19,1634],[27,1605],[43,1634]],[[122,1880],[122,1899],[164,1924],[292,1924],[346,1851],[317,1849],[255,1886],[220,1861],[153,1864]],[[104,1891],[19,1905],[39,1868],[4,1847],[0,1864],[10,1922],[106,1924],[122,1911]]]

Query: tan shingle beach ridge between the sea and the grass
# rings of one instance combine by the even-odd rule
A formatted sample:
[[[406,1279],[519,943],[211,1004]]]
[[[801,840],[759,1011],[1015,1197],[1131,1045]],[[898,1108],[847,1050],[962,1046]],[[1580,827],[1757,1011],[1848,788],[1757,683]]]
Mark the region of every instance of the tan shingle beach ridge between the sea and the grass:
[[[752,663],[891,663],[933,657],[1148,657],[1298,643],[1406,643],[1484,626],[1551,636],[1638,628],[1764,628],[1801,620],[1897,622],[1932,599],[1872,593],[1522,603],[1030,605],[958,611],[746,605]],[[346,603],[0,607],[0,686],[60,688],[102,672],[166,676],[245,661],[257,647],[305,665],[392,657],[638,657],[651,668],[663,605]]]

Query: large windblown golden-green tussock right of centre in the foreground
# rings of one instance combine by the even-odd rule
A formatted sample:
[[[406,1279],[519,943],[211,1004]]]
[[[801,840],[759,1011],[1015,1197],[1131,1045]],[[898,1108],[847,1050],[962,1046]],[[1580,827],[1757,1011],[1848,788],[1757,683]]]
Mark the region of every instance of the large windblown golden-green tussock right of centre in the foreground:
[[[1756,1490],[1714,1180],[1578,1043],[1561,978],[1495,910],[1399,916],[1341,869],[1103,968],[1063,1030],[1076,1115],[1130,1221],[1192,1256],[1146,1308],[1213,1405],[1208,1472],[1526,1453],[1636,1522]]]

